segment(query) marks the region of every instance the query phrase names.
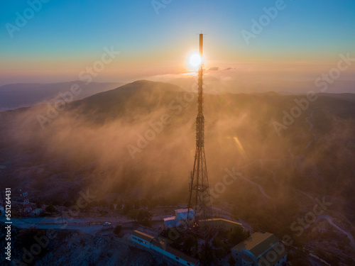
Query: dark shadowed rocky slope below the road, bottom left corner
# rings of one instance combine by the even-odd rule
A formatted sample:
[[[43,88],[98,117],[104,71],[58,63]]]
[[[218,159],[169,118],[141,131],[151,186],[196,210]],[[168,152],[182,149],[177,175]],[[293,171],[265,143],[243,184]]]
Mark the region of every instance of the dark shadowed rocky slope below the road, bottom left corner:
[[[1,223],[1,250],[5,250],[4,223]],[[11,260],[14,265],[35,266],[155,266],[166,265],[160,257],[135,248],[120,238],[97,237],[72,230],[12,228]],[[131,245],[126,245],[129,243]],[[5,254],[0,261],[6,263]],[[18,264],[16,264],[18,263]],[[21,264],[22,263],[22,264]],[[10,264],[9,264],[10,265]]]

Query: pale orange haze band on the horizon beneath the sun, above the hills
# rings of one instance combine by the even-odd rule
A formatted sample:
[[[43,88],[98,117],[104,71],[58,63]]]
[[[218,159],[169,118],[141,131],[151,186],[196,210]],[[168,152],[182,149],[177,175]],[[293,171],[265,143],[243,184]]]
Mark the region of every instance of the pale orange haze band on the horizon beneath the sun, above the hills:
[[[218,68],[218,67],[217,67]],[[218,72],[218,74],[216,73]],[[295,77],[275,77],[274,73],[263,73],[255,78],[253,72],[236,72],[236,70],[205,70],[204,82],[208,84],[205,88],[209,94],[220,93],[265,93],[277,92],[279,94],[306,94],[310,89],[320,92],[327,92],[329,94],[354,94],[355,81],[351,74],[344,79],[337,79],[332,84],[329,84],[324,90],[323,84],[315,82],[317,73],[313,77],[306,79],[297,79]],[[354,74],[353,74],[354,76]],[[153,77],[152,80],[160,82],[168,82],[178,85],[183,89],[191,89],[194,77],[185,77],[174,75],[163,75]],[[322,85],[322,86],[320,86]]]

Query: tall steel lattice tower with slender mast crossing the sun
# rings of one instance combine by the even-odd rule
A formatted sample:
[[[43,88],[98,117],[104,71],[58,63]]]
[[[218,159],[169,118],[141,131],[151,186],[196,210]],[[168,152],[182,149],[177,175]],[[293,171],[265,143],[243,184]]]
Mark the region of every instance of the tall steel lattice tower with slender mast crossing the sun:
[[[203,34],[200,34],[200,56],[202,60]],[[204,116],[203,116],[203,62],[201,61],[198,74],[198,99],[196,118],[196,153],[194,169],[191,175],[190,200],[187,208],[195,210],[195,225],[199,221],[212,218],[212,204],[209,194],[209,183],[204,155]],[[187,217],[188,213],[187,213]],[[204,239],[207,238],[207,230],[204,228]]]

